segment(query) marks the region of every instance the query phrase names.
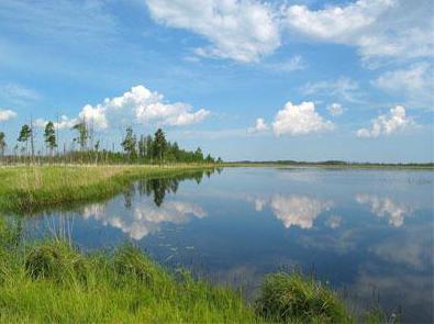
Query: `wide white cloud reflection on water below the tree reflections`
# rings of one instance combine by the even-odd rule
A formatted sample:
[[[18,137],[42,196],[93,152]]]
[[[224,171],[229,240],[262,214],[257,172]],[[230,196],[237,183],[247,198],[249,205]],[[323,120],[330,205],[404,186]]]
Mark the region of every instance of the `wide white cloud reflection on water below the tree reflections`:
[[[207,212],[189,202],[167,201],[160,208],[143,203],[132,210],[124,210],[121,214],[111,213],[104,204],[91,204],[82,210],[81,215],[86,220],[94,219],[104,226],[120,228],[138,241],[149,233],[158,232],[165,223],[185,224],[192,217],[207,216]]]

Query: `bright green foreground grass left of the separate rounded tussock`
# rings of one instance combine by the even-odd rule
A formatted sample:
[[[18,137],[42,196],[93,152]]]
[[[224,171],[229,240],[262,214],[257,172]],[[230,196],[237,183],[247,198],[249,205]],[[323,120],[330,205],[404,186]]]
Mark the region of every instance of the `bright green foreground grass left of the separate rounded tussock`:
[[[0,264],[0,323],[259,322],[236,292],[175,278],[132,246],[80,255],[45,242],[8,257]]]

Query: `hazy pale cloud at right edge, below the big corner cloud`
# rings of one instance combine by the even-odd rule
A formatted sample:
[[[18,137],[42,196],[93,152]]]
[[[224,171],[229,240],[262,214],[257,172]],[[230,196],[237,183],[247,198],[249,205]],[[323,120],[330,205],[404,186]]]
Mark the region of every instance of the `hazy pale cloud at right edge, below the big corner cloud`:
[[[387,71],[372,81],[377,88],[408,98],[408,100],[433,109],[434,76],[432,65],[419,63],[407,69]]]

